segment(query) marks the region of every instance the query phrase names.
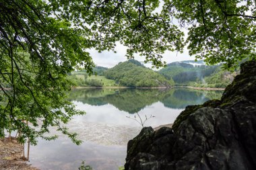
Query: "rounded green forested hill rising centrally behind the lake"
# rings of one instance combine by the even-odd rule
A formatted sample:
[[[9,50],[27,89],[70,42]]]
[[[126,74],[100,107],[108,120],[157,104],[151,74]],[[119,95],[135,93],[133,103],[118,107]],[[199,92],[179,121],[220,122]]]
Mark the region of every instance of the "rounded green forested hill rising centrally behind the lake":
[[[174,85],[172,79],[165,79],[164,76],[144,67],[137,60],[119,62],[112,69],[106,70],[104,75],[126,87],[170,87]]]

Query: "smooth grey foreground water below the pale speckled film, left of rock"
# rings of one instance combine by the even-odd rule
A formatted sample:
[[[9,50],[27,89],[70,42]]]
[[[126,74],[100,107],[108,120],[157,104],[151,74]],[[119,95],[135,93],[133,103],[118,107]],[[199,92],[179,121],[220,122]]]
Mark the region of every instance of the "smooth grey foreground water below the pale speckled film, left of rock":
[[[55,141],[40,140],[30,148],[30,163],[41,170],[75,170],[82,161],[94,170],[115,170],[123,166],[126,146],[104,146],[93,142],[75,145],[67,138]]]

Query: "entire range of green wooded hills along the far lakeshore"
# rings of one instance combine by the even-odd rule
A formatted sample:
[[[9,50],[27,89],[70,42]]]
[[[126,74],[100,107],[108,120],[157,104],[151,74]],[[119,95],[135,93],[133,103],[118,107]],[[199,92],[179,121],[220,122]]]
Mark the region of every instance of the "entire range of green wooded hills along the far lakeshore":
[[[171,62],[159,71],[144,67],[137,60],[119,62],[115,67],[94,67],[91,76],[86,70],[69,74],[69,81],[77,87],[216,87],[224,88],[239,73],[224,71],[222,65],[207,66],[202,60]]]

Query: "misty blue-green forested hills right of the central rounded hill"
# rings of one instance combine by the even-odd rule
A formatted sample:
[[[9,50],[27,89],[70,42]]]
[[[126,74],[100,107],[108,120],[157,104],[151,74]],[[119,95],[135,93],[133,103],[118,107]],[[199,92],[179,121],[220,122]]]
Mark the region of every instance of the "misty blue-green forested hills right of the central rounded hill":
[[[158,73],[166,79],[173,79],[175,85],[193,87],[226,87],[237,74],[224,71],[222,65],[204,65],[202,60],[171,62]]]

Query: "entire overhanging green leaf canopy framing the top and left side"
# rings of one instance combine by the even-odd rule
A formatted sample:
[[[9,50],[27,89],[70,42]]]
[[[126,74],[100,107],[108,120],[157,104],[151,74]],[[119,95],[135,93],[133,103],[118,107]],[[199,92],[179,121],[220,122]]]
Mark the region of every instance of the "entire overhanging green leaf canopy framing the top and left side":
[[[0,1],[0,134],[19,130],[21,140],[57,126],[74,114],[65,99],[67,73],[92,73],[88,49],[113,50],[116,42],[161,67],[166,50],[189,52],[214,64],[234,65],[255,51],[255,1],[9,0]],[[173,22],[174,21],[174,22]],[[178,22],[179,24],[177,24]],[[185,42],[181,26],[189,29]],[[30,122],[30,126],[24,123]],[[48,138],[50,139],[50,138]]]

